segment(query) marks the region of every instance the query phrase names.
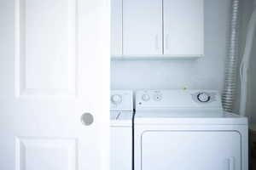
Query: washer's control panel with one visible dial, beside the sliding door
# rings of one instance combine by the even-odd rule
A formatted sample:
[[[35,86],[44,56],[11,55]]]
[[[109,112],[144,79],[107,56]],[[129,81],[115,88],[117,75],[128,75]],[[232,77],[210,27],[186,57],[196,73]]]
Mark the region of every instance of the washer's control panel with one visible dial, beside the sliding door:
[[[110,95],[110,111],[133,111],[131,90],[112,90]]]

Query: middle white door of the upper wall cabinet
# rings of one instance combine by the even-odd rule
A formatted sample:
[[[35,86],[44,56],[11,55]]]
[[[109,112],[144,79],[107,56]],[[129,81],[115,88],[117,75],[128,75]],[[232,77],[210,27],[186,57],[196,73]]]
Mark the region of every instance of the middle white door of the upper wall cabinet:
[[[162,0],[123,0],[125,55],[162,54]]]

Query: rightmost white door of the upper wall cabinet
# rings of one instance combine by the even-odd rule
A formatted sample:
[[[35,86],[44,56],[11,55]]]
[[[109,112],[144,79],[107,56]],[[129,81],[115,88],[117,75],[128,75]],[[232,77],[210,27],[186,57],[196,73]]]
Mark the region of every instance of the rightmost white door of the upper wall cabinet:
[[[204,54],[204,0],[164,0],[164,54]]]

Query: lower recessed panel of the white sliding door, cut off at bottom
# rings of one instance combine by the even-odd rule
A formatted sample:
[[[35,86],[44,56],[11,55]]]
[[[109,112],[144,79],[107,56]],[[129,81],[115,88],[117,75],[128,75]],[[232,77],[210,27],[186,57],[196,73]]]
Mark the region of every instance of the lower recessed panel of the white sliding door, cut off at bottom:
[[[16,137],[15,141],[15,170],[77,168],[77,139]]]

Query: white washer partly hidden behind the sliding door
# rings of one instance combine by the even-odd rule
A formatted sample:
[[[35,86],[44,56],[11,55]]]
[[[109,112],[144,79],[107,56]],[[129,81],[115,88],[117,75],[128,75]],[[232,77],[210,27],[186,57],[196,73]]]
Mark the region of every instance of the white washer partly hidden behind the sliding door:
[[[113,90],[110,96],[111,170],[132,168],[132,91]]]

